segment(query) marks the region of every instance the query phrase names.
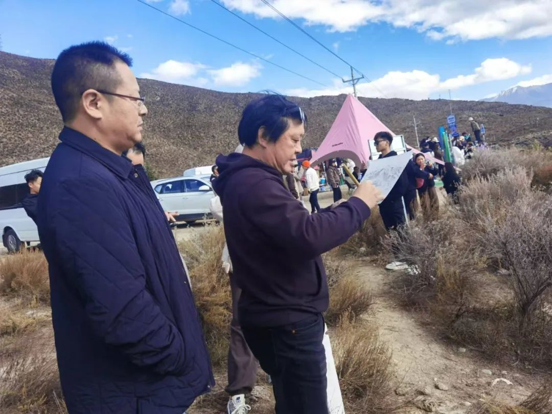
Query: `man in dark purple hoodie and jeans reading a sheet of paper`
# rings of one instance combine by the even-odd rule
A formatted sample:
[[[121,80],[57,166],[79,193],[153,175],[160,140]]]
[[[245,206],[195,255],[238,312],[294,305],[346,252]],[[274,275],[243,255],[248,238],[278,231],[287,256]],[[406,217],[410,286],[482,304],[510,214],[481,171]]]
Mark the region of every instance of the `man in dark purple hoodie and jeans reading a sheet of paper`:
[[[357,232],[381,199],[365,182],[348,201],[309,214],[282,181],[297,164],[305,124],[302,109],[283,96],[255,99],[238,125],[243,153],[216,160],[214,188],[242,289],[238,319],[272,378],[276,414],[328,413],[322,345],[328,286],[320,255]]]

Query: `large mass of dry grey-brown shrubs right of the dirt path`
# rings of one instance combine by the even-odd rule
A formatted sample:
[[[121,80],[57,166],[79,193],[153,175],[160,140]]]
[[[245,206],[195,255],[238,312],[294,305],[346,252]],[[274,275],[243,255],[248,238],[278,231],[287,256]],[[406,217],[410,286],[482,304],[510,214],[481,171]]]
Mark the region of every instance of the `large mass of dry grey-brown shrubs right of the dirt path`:
[[[532,155],[537,165],[550,156],[507,150],[495,167]],[[412,222],[386,245],[411,266],[397,278],[400,297],[429,311],[444,334],[492,359],[550,367],[552,196],[533,186],[532,170],[503,164],[465,184],[459,206]]]

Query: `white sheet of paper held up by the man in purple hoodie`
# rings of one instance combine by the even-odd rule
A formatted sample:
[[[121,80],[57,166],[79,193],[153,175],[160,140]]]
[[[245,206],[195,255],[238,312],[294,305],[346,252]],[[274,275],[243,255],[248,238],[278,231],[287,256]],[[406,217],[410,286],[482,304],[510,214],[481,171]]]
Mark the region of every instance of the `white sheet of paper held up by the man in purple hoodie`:
[[[397,180],[404,171],[408,160],[412,158],[412,152],[394,155],[388,158],[369,161],[362,181],[369,180],[378,187],[384,198],[387,197]]]

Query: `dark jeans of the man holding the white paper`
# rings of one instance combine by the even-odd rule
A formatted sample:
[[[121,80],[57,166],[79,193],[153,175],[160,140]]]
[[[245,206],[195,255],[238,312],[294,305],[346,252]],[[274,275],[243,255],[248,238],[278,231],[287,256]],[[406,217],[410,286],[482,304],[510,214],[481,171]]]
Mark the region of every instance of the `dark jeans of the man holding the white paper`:
[[[272,379],[275,414],[328,414],[320,313],[285,326],[242,329],[253,355]]]

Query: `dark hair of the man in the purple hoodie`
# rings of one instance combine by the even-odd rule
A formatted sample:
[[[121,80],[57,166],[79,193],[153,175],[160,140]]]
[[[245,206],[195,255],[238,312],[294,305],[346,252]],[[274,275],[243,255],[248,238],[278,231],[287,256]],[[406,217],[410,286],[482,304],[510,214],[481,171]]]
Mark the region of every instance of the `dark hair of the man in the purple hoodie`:
[[[289,128],[288,118],[298,120],[306,127],[306,114],[298,104],[288,101],[284,96],[266,95],[254,99],[242,112],[238,125],[240,144],[251,148],[257,142],[260,128],[264,128],[263,137],[276,142]]]

